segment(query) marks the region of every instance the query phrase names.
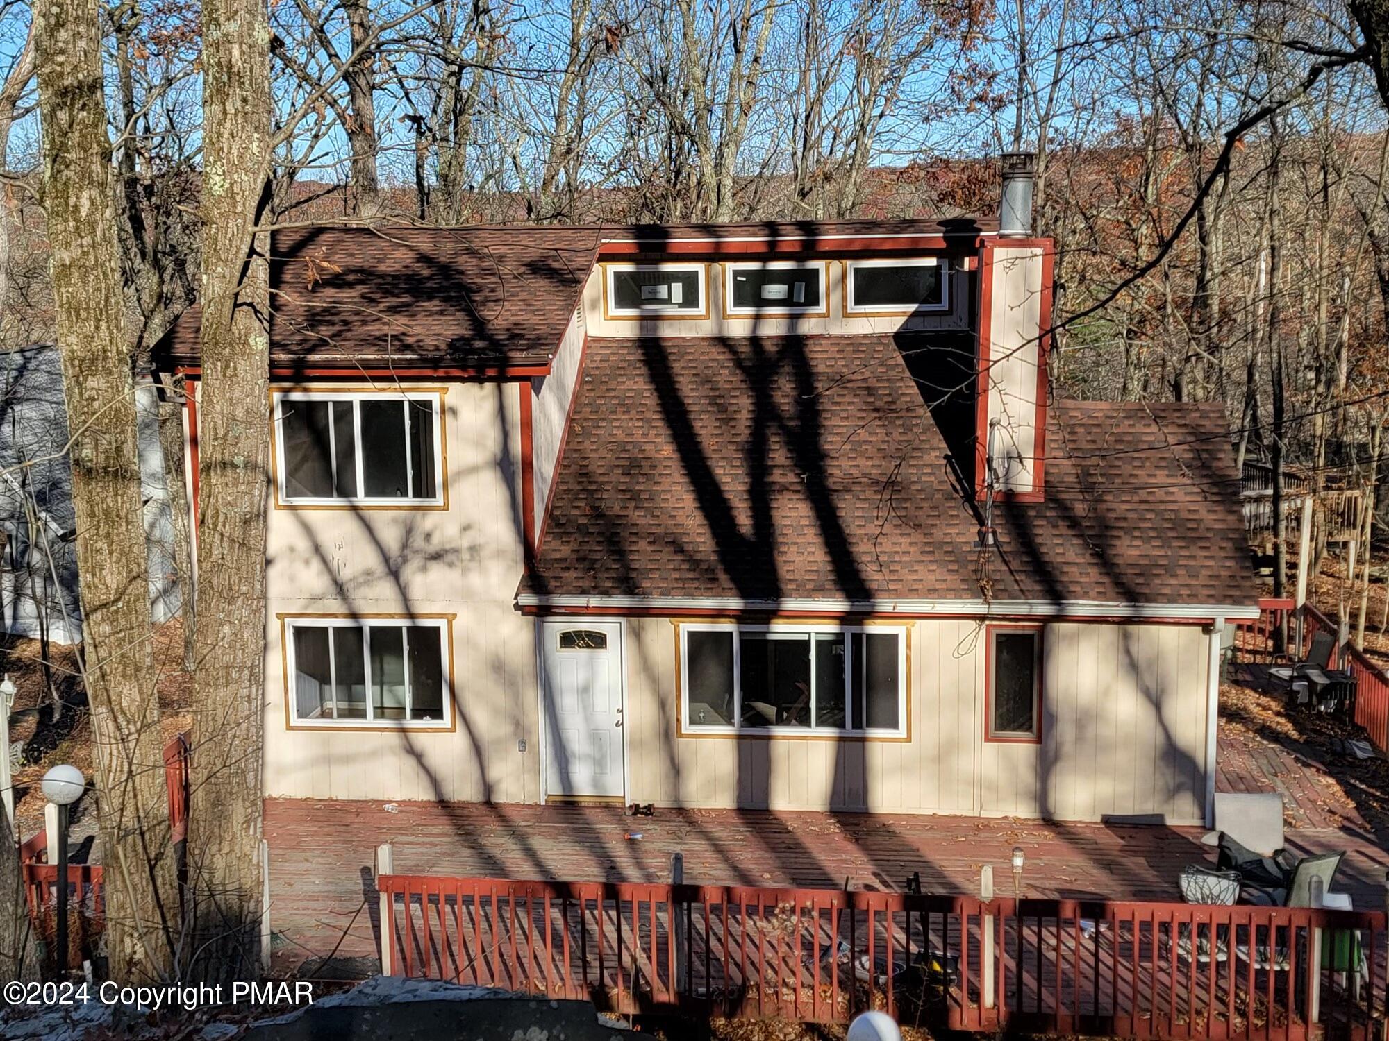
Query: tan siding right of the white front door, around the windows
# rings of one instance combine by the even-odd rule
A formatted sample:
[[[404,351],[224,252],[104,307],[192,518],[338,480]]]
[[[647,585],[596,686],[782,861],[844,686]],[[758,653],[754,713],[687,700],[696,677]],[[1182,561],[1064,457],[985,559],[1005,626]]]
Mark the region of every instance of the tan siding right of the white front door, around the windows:
[[[911,740],[676,736],[675,626],[629,619],[629,798],[770,806],[1047,816],[1203,806],[1206,655],[1196,626],[1047,625],[1043,741],[983,740],[985,640],[971,620],[911,626]]]

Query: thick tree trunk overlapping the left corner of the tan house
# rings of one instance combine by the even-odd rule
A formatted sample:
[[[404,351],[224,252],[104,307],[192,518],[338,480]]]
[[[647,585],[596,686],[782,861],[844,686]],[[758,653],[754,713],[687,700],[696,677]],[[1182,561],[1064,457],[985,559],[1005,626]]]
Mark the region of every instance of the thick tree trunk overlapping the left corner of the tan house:
[[[197,662],[188,869],[193,969],[260,972],[261,702],[269,455],[269,26],[260,0],[203,3],[203,386]]]

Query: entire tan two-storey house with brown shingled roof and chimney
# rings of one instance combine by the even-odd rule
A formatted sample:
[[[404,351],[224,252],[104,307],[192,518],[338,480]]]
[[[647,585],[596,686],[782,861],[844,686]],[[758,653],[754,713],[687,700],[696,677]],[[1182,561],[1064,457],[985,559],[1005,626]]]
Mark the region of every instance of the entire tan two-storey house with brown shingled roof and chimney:
[[[1257,616],[1225,416],[1049,407],[1049,240],[272,258],[267,795],[1207,815],[1221,634]],[[197,321],[161,344],[190,376]]]

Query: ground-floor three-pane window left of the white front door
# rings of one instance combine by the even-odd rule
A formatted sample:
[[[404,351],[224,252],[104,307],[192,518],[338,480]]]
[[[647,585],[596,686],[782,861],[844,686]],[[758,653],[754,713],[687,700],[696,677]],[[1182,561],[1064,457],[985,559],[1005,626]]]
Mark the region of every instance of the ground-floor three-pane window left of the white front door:
[[[283,619],[290,726],[449,729],[447,618]]]

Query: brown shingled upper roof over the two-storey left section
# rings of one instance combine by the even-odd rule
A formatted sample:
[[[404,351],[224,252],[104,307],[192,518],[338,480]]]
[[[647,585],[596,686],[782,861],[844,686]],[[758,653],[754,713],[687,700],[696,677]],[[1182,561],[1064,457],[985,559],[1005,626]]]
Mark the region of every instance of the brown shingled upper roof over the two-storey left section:
[[[597,250],[593,228],[308,228],[271,239],[271,364],[544,364]],[[157,348],[199,361],[197,307]]]

